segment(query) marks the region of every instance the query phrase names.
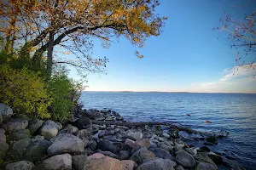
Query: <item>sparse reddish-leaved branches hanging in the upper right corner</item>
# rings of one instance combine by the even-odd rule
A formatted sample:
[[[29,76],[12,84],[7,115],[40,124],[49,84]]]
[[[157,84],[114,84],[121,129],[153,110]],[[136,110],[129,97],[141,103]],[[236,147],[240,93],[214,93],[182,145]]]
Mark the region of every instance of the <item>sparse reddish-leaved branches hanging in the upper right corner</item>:
[[[230,4],[231,8],[237,8],[244,11],[243,16],[236,18],[224,11],[224,15],[220,18],[221,26],[217,27],[223,32],[224,42],[227,42],[231,48],[237,49],[236,69],[240,66],[248,69],[255,69],[256,65],[256,9],[252,8],[255,0],[237,1]],[[253,54],[253,59],[249,60],[239,54],[243,50],[245,54]]]

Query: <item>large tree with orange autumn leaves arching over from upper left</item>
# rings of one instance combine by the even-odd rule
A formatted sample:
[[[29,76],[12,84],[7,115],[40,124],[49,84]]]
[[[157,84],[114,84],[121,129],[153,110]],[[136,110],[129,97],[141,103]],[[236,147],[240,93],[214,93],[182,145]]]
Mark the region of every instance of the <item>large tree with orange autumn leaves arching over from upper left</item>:
[[[90,56],[93,39],[100,39],[106,48],[124,36],[143,48],[148,37],[162,31],[166,17],[156,14],[159,5],[158,0],[8,0],[0,8],[1,36],[5,49],[29,43],[34,60],[47,51],[48,77],[57,63],[95,72],[106,66],[107,59]],[[53,59],[56,47],[67,48],[77,59]],[[138,51],[135,54],[143,58]]]

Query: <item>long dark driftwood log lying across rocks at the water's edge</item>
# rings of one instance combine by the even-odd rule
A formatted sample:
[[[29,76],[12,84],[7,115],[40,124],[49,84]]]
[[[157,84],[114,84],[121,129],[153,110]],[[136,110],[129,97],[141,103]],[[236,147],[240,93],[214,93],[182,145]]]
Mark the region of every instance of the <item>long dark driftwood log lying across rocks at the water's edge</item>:
[[[171,129],[177,129],[179,131],[185,131],[187,133],[200,133],[202,135],[210,135],[211,133],[207,132],[200,132],[194,129],[191,129],[189,127],[181,127],[174,125],[169,122],[112,122],[112,121],[96,121],[96,120],[90,120],[92,124],[98,124],[98,125],[117,125],[117,126],[125,126],[125,127],[143,127],[145,125],[148,126],[156,126],[156,125],[162,125],[169,127]]]

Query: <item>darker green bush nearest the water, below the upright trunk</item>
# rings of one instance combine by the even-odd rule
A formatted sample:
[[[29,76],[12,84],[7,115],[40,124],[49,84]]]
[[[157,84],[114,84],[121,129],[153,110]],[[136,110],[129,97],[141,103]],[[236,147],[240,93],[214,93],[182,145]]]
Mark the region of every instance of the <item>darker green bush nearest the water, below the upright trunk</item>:
[[[80,88],[80,84],[69,79],[64,71],[51,77],[48,90],[53,99],[50,112],[55,121],[65,122],[71,118],[71,113],[80,96]]]

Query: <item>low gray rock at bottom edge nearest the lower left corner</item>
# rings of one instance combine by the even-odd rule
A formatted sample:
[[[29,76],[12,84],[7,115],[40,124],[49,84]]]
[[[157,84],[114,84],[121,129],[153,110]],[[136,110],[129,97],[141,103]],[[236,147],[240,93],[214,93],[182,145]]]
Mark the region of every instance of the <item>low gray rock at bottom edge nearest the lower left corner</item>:
[[[31,161],[16,161],[6,165],[6,170],[32,170],[35,167]]]

